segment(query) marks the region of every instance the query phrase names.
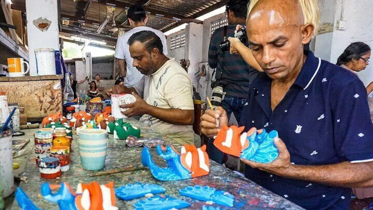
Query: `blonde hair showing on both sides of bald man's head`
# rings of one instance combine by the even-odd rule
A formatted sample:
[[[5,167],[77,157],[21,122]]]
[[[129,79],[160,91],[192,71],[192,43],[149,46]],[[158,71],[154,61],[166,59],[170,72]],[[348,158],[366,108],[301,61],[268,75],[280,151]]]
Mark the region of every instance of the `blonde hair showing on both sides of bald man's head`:
[[[256,3],[258,3],[259,0],[251,0],[248,4],[247,9],[247,18],[249,18],[249,15],[251,13],[251,10],[253,10]],[[304,15],[304,24],[312,24],[314,26],[314,31],[312,34],[312,37],[314,37],[317,34],[317,31],[319,30],[319,22],[320,22],[320,6],[318,0],[298,0],[302,7],[302,12]]]

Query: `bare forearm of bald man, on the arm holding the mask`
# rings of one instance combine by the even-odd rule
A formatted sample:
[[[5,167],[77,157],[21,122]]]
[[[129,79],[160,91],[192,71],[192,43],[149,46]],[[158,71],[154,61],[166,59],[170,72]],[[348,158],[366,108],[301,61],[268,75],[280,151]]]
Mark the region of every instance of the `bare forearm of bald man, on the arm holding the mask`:
[[[291,179],[300,179],[339,187],[370,187],[373,162],[350,163],[348,161],[320,166],[293,165],[285,174]]]

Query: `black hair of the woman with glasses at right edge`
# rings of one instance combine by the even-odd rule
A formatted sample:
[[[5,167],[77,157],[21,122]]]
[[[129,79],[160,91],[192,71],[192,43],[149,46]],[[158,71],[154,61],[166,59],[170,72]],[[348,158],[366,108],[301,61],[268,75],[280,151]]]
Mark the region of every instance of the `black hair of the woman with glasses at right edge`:
[[[360,59],[361,56],[367,54],[370,51],[370,47],[363,42],[351,43],[345,51],[338,57],[336,65],[347,64],[352,59]]]

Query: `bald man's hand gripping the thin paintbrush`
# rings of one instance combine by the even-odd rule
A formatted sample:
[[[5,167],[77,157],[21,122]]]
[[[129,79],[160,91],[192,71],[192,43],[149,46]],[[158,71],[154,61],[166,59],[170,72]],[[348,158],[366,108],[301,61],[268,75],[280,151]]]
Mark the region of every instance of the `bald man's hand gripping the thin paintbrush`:
[[[201,132],[206,136],[216,136],[217,132],[228,125],[227,112],[219,106],[215,110],[207,109],[201,117]]]

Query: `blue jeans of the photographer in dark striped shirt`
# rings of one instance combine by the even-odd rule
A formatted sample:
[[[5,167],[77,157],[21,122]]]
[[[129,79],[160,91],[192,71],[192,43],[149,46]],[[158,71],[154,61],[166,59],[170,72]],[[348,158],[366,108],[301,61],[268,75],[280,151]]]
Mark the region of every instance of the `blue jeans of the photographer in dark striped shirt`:
[[[240,98],[235,96],[225,96],[224,100],[222,101],[222,107],[225,109],[228,115],[228,120],[231,118],[231,114],[233,112],[234,116],[236,117],[237,122],[241,120],[242,109],[244,108],[247,102],[246,98]],[[207,143],[207,151],[211,160],[223,164],[224,153],[216,148],[213,145],[214,139],[210,138],[209,142]]]

